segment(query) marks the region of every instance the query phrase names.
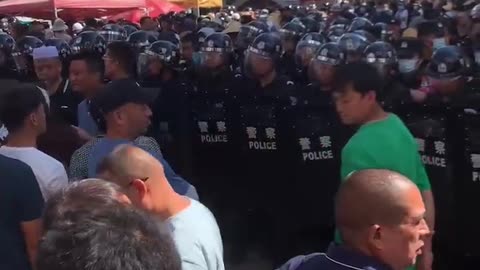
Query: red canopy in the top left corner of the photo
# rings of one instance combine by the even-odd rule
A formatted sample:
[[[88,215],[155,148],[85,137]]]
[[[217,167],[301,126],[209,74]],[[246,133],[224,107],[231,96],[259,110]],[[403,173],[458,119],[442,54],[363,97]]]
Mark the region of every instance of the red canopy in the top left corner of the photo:
[[[79,18],[107,16],[146,7],[145,0],[6,0],[0,2],[0,13],[34,18],[58,16]]]

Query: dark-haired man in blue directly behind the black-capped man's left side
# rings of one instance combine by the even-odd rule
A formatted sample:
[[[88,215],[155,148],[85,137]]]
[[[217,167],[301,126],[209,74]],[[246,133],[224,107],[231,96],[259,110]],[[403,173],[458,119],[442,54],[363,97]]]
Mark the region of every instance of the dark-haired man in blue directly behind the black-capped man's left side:
[[[95,54],[83,52],[70,59],[70,81],[73,91],[80,93],[84,100],[78,104],[78,127],[91,136],[99,134],[95,118],[98,113],[91,108],[92,99],[103,87],[103,62]],[[89,110],[92,110],[93,117]]]

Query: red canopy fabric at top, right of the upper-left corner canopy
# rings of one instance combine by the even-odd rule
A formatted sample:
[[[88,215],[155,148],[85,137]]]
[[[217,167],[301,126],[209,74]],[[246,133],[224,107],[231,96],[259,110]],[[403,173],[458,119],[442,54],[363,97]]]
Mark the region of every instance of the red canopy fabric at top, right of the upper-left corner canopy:
[[[108,17],[109,20],[126,19],[131,22],[139,22],[143,16],[158,17],[161,14],[165,14],[171,11],[180,12],[184,8],[178,5],[167,2],[166,0],[146,0],[146,9],[137,9],[132,11],[125,11],[119,14]]]

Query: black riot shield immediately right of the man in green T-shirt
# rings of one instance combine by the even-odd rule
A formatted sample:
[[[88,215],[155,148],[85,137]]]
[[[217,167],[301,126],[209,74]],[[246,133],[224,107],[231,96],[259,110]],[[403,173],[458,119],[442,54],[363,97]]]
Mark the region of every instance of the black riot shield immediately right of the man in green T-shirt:
[[[452,143],[457,114],[451,108],[409,105],[400,115],[418,145],[435,198],[434,252],[448,254],[458,252],[454,243],[456,235],[456,146]],[[439,254],[439,255],[440,255]]]

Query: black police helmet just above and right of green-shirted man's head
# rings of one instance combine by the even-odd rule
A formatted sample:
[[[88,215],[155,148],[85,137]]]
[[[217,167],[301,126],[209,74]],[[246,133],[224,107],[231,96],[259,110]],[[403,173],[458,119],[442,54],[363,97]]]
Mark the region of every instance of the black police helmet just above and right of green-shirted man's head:
[[[377,41],[365,48],[364,59],[369,64],[394,66],[397,64],[395,48],[388,42]]]

